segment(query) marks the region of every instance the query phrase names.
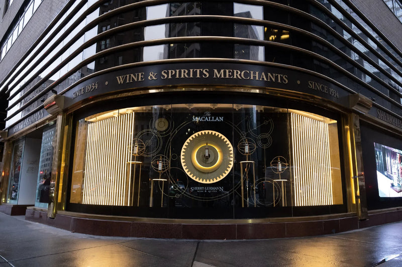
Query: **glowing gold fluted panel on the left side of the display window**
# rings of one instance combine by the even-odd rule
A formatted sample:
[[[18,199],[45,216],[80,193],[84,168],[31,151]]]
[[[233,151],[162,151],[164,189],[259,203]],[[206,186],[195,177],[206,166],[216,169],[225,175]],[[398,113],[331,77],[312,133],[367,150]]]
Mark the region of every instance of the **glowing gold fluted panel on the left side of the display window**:
[[[90,122],[85,154],[83,204],[128,205],[127,162],[132,146],[134,113]]]

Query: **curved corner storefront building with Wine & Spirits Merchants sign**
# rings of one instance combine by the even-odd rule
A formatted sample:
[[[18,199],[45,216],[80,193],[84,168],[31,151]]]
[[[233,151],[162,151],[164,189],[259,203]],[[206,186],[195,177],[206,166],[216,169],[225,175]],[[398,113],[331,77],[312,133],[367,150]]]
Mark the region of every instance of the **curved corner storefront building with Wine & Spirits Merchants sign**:
[[[10,2],[0,211],[162,238],[402,220],[396,1]]]

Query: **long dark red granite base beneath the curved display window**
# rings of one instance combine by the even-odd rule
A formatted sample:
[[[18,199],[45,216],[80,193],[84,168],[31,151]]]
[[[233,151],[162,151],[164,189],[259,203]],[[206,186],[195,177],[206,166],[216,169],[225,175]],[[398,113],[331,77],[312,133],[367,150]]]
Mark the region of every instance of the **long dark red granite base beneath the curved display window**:
[[[345,217],[325,220],[266,223],[159,223],[79,218],[27,209],[25,219],[72,232],[149,238],[180,239],[265,239],[332,234],[402,220],[402,210],[369,214],[367,220]]]

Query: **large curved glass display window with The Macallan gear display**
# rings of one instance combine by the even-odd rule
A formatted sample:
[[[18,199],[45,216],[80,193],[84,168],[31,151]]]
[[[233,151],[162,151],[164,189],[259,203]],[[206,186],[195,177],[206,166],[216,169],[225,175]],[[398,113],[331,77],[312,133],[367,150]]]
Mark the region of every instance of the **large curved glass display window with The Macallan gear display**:
[[[76,122],[68,209],[172,218],[344,212],[338,128],[308,112],[240,104],[98,113]]]

